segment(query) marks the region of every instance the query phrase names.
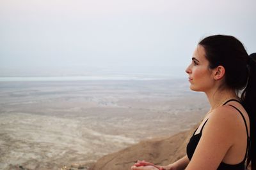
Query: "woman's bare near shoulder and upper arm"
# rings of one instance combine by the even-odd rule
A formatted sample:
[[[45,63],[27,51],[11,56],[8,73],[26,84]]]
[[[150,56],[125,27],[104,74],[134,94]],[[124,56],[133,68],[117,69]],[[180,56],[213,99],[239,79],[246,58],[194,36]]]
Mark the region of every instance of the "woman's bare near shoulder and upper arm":
[[[217,169],[236,143],[236,118],[232,106],[220,106],[210,113],[188,169]]]

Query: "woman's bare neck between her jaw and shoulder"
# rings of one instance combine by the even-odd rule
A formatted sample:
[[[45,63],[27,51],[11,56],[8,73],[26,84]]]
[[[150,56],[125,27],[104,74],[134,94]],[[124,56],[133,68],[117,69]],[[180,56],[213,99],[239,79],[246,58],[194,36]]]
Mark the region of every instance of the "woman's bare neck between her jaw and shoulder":
[[[218,108],[230,99],[238,99],[234,90],[214,90],[214,92],[205,92],[211,105],[210,111]]]

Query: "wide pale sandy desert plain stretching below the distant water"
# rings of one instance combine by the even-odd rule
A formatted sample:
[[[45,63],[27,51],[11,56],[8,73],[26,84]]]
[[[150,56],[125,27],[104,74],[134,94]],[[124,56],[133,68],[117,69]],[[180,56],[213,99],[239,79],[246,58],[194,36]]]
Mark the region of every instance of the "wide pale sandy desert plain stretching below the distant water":
[[[0,83],[0,169],[60,169],[188,130],[208,107],[186,80]]]

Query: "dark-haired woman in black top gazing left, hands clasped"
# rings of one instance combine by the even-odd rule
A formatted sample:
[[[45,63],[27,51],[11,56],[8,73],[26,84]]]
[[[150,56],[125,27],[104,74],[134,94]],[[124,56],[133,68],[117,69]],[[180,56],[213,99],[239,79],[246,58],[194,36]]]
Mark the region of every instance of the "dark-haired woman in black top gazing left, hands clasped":
[[[186,73],[190,89],[205,92],[211,109],[191,136],[187,155],[168,166],[138,161],[131,169],[256,169],[255,54],[248,55],[233,36],[202,39]]]

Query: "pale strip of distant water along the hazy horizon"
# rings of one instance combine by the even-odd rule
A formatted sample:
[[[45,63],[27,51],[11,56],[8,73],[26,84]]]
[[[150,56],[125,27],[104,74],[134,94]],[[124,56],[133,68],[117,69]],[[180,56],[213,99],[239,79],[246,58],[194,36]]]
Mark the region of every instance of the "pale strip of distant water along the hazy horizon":
[[[186,78],[183,67],[67,67],[8,70],[0,68],[3,81],[83,81],[83,80],[172,80]]]

